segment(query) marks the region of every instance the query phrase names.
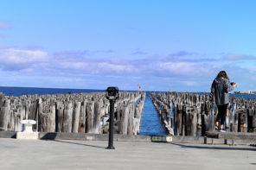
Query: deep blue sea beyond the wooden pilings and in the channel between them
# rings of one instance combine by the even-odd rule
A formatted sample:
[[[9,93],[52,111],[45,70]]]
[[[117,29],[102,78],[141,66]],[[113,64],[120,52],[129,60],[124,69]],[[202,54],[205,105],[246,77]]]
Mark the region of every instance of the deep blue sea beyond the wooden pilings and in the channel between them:
[[[55,88],[36,88],[36,87],[3,87],[0,86],[0,92],[6,96],[20,97],[22,95],[46,95],[46,94],[65,94],[78,92],[105,92],[106,90],[92,89],[55,89]],[[144,103],[144,112],[141,118],[140,135],[166,135],[166,131],[160,122],[157,112],[150,100],[150,91],[146,92]],[[255,98],[256,95],[249,94],[230,94],[236,98]]]

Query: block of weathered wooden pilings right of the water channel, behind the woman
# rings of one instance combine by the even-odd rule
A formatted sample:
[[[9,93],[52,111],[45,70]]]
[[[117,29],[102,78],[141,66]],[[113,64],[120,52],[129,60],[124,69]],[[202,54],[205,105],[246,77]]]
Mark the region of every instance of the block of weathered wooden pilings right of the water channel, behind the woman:
[[[169,91],[150,93],[150,98],[165,128],[173,129],[174,135],[205,135],[214,130],[218,110],[209,103],[208,94]],[[256,99],[230,98],[225,127],[232,132],[256,133]]]

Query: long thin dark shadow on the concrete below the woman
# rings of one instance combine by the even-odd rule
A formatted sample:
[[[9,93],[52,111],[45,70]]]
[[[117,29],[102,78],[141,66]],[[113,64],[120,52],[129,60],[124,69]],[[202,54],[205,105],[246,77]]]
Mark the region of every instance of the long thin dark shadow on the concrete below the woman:
[[[229,148],[229,147],[208,147],[208,146],[189,146],[184,144],[170,143],[181,148],[199,148],[199,149],[213,149],[213,150],[241,150],[241,151],[256,151],[256,148]]]

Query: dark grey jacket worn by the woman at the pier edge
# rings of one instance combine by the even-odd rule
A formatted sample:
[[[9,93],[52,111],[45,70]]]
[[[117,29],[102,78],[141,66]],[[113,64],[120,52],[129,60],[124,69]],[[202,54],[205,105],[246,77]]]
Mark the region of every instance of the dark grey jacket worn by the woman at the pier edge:
[[[210,101],[215,98],[215,104],[224,105],[229,103],[228,92],[233,91],[234,87],[230,81],[223,77],[214,79],[209,96]]]

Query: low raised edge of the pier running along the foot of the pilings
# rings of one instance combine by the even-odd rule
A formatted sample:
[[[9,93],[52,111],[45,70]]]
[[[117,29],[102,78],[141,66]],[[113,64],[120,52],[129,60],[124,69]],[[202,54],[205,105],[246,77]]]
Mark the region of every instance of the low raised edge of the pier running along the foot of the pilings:
[[[159,136],[154,141],[151,135],[113,135],[114,142],[167,142],[166,136]],[[16,138],[15,131],[0,131],[0,138]],[[171,136],[171,143],[198,143],[198,144],[227,144],[256,146],[256,134],[207,132],[207,136]],[[81,141],[108,141],[108,134],[80,134],[39,132],[42,140],[81,140]]]

